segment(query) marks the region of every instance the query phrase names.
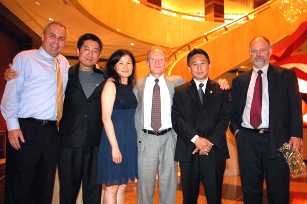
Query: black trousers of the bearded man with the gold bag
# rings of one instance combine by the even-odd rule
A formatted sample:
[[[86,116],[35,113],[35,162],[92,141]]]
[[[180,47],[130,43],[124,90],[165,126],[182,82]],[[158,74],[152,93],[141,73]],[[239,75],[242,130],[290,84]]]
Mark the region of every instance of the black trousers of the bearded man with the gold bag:
[[[281,154],[268,159],[268,137],[248,129],[236,134],[244,203],[262,203],[264,179],[270,203],[289,203],[289,169]]]

